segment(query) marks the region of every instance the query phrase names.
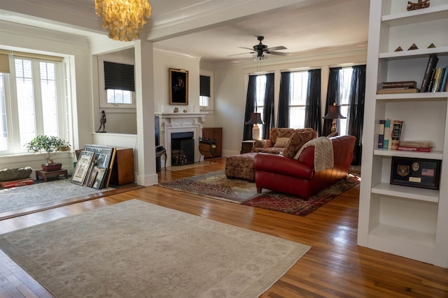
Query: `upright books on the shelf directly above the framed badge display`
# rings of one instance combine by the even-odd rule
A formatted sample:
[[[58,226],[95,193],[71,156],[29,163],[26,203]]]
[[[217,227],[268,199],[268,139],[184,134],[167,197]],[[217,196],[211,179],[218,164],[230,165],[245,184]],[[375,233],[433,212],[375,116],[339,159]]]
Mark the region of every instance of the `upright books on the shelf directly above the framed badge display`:
[[[402,120],[380,119],[378,126],[378,148],[397,150],[400,144]]]

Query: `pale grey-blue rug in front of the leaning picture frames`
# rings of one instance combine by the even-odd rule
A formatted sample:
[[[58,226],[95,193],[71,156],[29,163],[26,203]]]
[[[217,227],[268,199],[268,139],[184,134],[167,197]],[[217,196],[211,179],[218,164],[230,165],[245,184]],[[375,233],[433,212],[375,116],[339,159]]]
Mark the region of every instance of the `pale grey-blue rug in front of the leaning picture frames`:
[[[113,188],[96,189],[71,183],[70,179],[59,179],[0,190],[0,214],[6,211],[25,209],[37,205],[57,202],[109,191]]]

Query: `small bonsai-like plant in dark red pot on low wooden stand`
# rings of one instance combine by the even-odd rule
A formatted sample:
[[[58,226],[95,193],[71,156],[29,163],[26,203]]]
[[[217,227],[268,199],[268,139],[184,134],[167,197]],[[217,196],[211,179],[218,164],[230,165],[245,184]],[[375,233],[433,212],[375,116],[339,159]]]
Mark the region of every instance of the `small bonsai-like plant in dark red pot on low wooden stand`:
[[[29,143],[25,144],[28,151],[40,153],[45,158],[45,164],[42,164],[44,171],[60,170],[62,163],[54,163],[51,156],[55,151],[64,151],[69,149],[69,142],[59,139],[53,135],[38,135]]]

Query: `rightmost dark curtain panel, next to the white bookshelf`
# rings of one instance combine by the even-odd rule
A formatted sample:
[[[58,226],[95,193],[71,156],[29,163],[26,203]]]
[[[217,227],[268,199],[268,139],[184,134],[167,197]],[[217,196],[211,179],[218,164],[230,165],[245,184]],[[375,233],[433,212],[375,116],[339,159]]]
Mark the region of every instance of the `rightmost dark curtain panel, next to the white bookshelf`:
[[[347,116],[349,135],[356,137],[352,165],[361,164],[361,151],[363,149],[363,119],[365,103],[365,65],[353,66],[351,75],[350,109]]]

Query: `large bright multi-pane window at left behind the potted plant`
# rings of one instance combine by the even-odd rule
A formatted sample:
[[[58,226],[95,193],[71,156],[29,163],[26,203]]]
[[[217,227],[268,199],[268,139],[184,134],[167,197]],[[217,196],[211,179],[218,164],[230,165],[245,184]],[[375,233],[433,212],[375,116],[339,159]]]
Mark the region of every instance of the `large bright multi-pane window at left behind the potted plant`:
[[[66,139],[62,62],[10,58],[10,74],[0,74],[0,155],[26,152],[36,135]]]

